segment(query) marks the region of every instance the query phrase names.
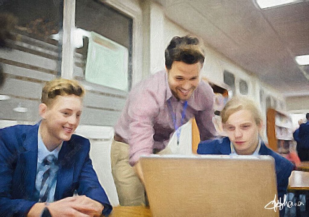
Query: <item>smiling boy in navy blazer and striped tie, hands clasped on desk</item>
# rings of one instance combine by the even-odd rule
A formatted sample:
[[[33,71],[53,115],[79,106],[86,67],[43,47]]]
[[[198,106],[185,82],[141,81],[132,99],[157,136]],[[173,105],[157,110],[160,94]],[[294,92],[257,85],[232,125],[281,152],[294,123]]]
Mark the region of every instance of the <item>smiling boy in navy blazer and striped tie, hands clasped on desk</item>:
[[[83,88],[67,79],[46,83],[38,124],[0,130],[0,216],[101,216],[112,211],[75,135]],[[72,197],[74,192],[78,196]]]

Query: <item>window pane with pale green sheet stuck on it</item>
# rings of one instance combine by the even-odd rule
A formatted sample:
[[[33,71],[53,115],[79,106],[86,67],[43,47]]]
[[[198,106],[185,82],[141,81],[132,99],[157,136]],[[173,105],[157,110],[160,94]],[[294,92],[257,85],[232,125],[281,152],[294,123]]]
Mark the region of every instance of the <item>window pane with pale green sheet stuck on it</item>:
[[[133,19],[103,1],[76,0],[73,78],[86,87],[81,124],[114,126],[132,85]]]

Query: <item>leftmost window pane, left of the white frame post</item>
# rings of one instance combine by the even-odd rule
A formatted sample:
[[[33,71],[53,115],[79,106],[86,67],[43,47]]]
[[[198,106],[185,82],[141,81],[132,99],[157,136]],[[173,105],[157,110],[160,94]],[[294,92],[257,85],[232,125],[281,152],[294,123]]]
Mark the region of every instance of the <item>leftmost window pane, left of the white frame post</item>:
[[[10,31],[16,40],[7,40],[9,49],[0,50],[0,64],[6,74],[0,95],[7,98],[0,119],[27,124],[40,120],[37,109],[44,82],[61,75],[61,43],[57,36],[62,30],[62,3],[0,1],[0,14],[17,20]]]

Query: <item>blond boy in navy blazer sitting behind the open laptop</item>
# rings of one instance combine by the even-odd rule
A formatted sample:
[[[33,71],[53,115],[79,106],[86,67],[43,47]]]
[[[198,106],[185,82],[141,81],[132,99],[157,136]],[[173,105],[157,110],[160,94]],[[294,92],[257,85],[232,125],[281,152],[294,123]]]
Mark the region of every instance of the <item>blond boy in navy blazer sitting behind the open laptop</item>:
[[[265,146],[259,132],[263,130],[259,109],[248,97],[233,97],[221,111],[227,137],[203,141],[197,153],[207,155],[270,155],[275,159],[278,199],[283,202],[294,165]],[[280,211],[283,216],[285,209]]]

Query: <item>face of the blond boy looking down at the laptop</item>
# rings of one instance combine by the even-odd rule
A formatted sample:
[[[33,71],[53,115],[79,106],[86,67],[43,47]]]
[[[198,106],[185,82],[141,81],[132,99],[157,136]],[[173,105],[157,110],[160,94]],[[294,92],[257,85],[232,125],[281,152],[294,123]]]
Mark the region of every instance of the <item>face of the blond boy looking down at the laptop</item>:
[[[258,134],[262,125],[256,125],[252,113],[239,110],[231,114],[224,124],[224,130],[238,154],[251,155],[258,145]]]

